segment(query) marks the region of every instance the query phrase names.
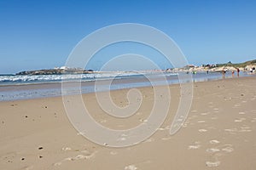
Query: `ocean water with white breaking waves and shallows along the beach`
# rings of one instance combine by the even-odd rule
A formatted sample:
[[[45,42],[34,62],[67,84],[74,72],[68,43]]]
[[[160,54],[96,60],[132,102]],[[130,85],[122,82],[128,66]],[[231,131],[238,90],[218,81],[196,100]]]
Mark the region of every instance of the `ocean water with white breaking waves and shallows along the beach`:
[[[122,88],[164,85],[166,81],[163,81],[163,77],[166,78],[168,84],[189,82],[189,79],[183,80],[183,82],[178,79],[178,75],[182,74],[186,73],[119,71],[81,75],[0,75],[0,101],[61,96],[61,82],[81,82],[80,89],[69,88],[67,94],[87,94]],[[246,72],[240,74],[240,77],[250,76],[252,75]],[[150,81],[148,77],[150,77]],[[198,72],[192,77],[193,82],[207,82],[221,78],[231,78],[232,75],[230,72],[227,72],[225,77],[218,72],[210,72],[209,74]],[[109,81],[111,81],[110,85],[108,84]],[[100,85],[96,86],[95,82],[100,82],[97,83]]]

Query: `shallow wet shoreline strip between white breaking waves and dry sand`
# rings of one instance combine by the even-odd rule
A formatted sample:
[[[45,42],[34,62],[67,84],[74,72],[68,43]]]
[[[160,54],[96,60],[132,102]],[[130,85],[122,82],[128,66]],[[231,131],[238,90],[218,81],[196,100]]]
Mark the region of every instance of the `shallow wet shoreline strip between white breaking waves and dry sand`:
[[[241,77],[255,77],[256,75],[242,75]],[[236,78],[232,77],[231,74],[225,75],[223,77],[221,74],[201,74],[192,75],[194,82],[208,82],[219,79]],[[241,78],[239,77],[239,78]],[[154,82],[157,85],[166,84],[163,82],[163,78],[154,77]],[[179,80],[177,76],[166,76],[167,83],[178,84]],[[109,89],[125,89],[125,88],[141,88],[152,86],[146,77],[125,77],[113,79],[110,88],[108,87],[109,80],[99,80],[100,86],[97,89],[102,91],[108,91]],[[82,94],[95,93],[95,83],[96,81],[81,82]],[[49,82],[49,83],[37,83],[37,84],[20,84],[20,85],[4,85],[0,86],[0,102],[8,100],[20,100],[20,99],[38,99],[45,97],[56,97],[61,96],[61,84],[62,82]]]

